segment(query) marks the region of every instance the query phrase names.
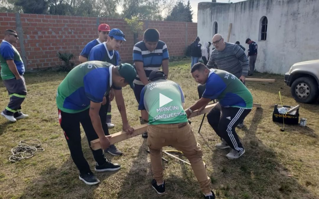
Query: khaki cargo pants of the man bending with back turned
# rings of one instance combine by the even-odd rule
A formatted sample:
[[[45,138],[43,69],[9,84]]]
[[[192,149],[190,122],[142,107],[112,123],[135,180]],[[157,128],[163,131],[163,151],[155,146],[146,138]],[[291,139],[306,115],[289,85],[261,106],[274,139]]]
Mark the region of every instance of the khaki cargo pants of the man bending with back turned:
[[[207,176],[203,162],[203,152],[196,142],[192,128],[188,123],[148,125],[147,145],[154,179],[163,180],[162,147],[171,145],[184,153],[204,193],[210,193],[211,180]]]

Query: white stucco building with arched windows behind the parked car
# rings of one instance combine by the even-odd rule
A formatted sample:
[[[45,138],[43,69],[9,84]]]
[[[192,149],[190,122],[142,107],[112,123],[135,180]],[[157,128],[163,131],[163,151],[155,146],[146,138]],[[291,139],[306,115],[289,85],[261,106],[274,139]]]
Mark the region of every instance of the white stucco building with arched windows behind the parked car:
[[[258,44],[256,70],[284,74],[293,63],[319,59],[319,0],[248,0],[234,4],[198,4],[201,43],[215,33],[229,42],[250,38]]]

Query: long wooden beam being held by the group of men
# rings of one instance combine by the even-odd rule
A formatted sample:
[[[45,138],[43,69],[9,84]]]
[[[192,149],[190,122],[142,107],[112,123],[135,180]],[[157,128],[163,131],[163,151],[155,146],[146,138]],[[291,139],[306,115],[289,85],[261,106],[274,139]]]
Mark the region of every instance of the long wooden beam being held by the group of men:
[[[202,110],[201,112],[199,112],[198,110],[195,110],[192,112],[192,114],[189,116],[189,118],[191,117],[196,117],[198,115],[202,115],[204,113],[209,113],[209,111],[216,105],[216,103],[213,103],[213,104],[209,104],[207,105],[204,110]],[[256,108],[260,108],[261,107],[261,104],[256,104],[256,103],[253,103],[253,107],[256,107]],[[134,128],[135,131],[129,135],[127,132],[125,131],[120,131],[120,132],[117,132],[117,133],[114,133],[112,135],[109,135],[107,136],[108,139],[110,140],[110,143],[111,145],[112,144],[115,144],[117,142],[121,142],[123,140],[126,140],[126,139],[129,139],[129,138],[132,138],[132,137],[135,137],[137,135],[141,135],[145,132],[147,132],[147,124],[142,124],[142,125],[139,125],[137,127]],[[98,150],[101,148],[100,146],[100,139],[95,139],[95,140],[92,140],[91,141],[91,148],[93,150]]]

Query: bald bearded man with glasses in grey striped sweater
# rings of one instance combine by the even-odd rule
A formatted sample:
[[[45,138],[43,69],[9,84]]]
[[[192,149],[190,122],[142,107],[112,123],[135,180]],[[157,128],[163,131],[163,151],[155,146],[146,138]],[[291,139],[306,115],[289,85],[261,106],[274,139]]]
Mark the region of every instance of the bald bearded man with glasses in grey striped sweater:
[[[215,34],[212,39],[215,49],[207,63],[207,68],[218,68],[235,75],[242,82],[248,75],[249,61],[240,46],[227,43],[220,34]]]

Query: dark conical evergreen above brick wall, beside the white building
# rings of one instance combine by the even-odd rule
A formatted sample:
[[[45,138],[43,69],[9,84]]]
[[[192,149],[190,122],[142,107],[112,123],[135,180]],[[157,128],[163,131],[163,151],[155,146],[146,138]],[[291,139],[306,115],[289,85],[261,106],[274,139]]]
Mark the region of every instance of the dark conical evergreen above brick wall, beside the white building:
[[[193,22],[193,11],[191,10],[190,3],[188,1],[185,5],[182,1],[177,2],[172,12],[165,19],[166,21],[185,21]]]

